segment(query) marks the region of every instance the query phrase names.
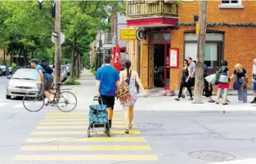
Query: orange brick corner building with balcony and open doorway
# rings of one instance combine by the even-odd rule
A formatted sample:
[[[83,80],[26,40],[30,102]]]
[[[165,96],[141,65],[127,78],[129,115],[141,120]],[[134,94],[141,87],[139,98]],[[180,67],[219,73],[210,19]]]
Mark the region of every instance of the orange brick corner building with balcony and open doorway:
[[[161,68],[162,86],[177,90],[186,57],[196,60],[197,35],[194,16],[199,15],[199,2],[176,4],[165,1],[127,2],[127,22],[131,29],[145,33],[141,41],[128,41],[128,57],[146,88],[156,86]],[[214,73],[221,60],[227,60],[230,75],[235,64],[242,64],[249,75],[256,58],[256,2],[243,0],[209,1],[207,14],[205,64]],[[177,68],[168,64],[169,47],[178,48]],[[175,59],[174,59],[175,61]],[[175,62],[174,62],[175,64]],[[156,69],[157,70],[157,69]],[[158,85],[159,86],[159,85]]]

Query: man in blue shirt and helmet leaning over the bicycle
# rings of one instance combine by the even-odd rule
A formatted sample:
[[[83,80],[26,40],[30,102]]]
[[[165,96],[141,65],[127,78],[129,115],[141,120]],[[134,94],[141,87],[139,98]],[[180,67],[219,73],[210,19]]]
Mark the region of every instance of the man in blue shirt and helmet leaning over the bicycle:
[[[47,96],[47,103],[46,106],[52,103],[51,95],[55,94],[54,91],[52,91],[52,83],[53,83],[53,76],[52,73],[47,73],[45,69],[41,65],[38,64],[38,60],[31,60],[30,61],[31,66],[36,69],[40,75],[40,83],[43,84],[44,93]]]

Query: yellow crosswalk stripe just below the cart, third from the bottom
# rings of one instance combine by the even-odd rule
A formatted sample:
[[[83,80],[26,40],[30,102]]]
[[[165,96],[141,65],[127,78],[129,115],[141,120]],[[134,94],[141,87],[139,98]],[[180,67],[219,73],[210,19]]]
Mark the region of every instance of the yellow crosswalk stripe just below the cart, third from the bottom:
[[[26,143],[42,142],[146,142],[144,137],[97,137],[97,138],[29,138]]]

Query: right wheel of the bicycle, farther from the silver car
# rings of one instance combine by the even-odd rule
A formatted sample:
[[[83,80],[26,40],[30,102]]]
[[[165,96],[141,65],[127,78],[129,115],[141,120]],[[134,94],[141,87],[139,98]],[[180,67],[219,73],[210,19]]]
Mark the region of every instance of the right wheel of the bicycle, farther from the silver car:
[[[56,104],[58,109],[60,109],[62,112],[71,112],[75,109],[77,101],[78,100],[76,99],[74,93],[70,91],[61,91]]]

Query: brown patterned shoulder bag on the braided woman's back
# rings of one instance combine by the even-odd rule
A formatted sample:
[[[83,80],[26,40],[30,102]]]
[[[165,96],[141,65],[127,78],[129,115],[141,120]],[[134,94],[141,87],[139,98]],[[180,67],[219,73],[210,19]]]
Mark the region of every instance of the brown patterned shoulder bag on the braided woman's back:
[[[124,104],[125,100],[131,99],[130,86],[129,86],[131,74],[132,74],[132,70],[130,72],[128,79],[125,82],[123,82],[121,86],[119,86],[117,99],[120,100],[121,104]]]

